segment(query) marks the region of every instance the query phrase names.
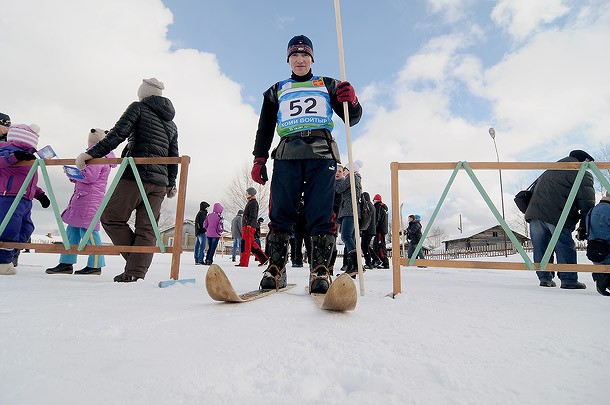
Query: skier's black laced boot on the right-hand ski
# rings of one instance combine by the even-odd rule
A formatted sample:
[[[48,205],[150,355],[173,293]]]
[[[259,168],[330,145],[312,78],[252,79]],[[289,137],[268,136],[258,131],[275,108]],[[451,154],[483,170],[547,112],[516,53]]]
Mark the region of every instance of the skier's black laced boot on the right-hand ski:
[[[329,268],[330,259],[335,248],[335,237],[333,235],[312,236],[311,245],[309,293],[326,294],[332,283]]]

